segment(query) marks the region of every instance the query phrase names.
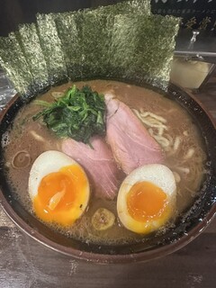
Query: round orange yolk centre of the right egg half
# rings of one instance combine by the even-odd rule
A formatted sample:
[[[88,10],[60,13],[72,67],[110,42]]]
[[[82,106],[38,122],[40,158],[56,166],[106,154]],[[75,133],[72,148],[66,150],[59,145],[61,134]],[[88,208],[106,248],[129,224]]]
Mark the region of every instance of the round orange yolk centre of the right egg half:
[[[127,209],[134,220],[145,222],[158,219],[167,209],[166,193],[147,181],[138,182],[127,195]]]

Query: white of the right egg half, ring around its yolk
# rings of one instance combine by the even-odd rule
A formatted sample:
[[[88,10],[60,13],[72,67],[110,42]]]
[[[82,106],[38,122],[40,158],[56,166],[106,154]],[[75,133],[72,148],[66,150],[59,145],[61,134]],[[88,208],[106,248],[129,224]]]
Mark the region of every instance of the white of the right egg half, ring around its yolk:
[[[130,188],[139,182],[146,181],[157,185],[161,188],[167,197],[167,206],[169,213],[166,213],[165,217],[160,219],[152,219],[146,221],[135,220],[130,216],[127,207],[127,194],[130,192]],[[140,166],[133,170],[121,184],[118,198],[117,198],[117,212],[122,225],[126,229],[130,229],[133,232],[139,234],[148,234],[160,227],[164,226],[175,213],[176,202],[176,184],[175,177],[172,171],[164,165],[150,164]]]

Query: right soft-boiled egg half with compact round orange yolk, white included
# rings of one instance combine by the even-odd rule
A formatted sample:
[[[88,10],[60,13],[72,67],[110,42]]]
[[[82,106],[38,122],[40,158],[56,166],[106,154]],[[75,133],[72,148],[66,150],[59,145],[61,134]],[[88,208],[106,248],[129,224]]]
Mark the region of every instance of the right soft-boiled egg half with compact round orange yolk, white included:
[[[123,226],[148,234],[166,225],[175,214],[176,184],[172,171],[159,164],[140,166],[121,184],[117,198]]]

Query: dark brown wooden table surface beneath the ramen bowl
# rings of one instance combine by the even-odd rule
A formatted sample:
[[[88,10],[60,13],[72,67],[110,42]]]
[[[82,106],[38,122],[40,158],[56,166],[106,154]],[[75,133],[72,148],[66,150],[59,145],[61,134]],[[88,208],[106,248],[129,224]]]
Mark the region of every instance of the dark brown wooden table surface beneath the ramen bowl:
[[[196,97],[216,122],[216,79]],[[44,247],[0,207],[0,287],[216,287],[216,219],[190,244],[147,263],[96,265]]]

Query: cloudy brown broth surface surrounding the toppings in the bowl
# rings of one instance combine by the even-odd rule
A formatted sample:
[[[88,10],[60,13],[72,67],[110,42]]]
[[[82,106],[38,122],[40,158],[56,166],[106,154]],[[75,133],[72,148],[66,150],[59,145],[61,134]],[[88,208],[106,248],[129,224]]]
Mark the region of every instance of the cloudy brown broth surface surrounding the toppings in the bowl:
[[[127,85],[124,83],[108,80],[93,80],[87,82],[76,83],[78,87],[90,85],[93,90],[99,93],[111,92],[116,95],[122,102],[128,104],[132,109],[143,108],[144,111],[154,112],[158,116],[166,119],[168,134],[175,139],[181,136],[181,146],[172,156],[166,155],[165,165],[176,171],[176,167],[186,167],[196,171],[196,177],[187,175],[184,172],[177,172],[181,176],[181,182],[178,184],[177,194],[177,212],[180,213],[193,202],[195,193],[199,190],[202,183],[203,161],[205,154],[202,150],[202,139],[199,131],[193,124],[192,118],[177,103],[167,99],[163,95],[157,94],[152,90],[135,85]],[[53,101],[52,92],[64,92],[67,87],[72,85],[61,85],[54,87],[47,94],[39,96],[42,100]],[[61,150],[61,139],[58,139],[46,126],[40,121],[32,121],[32,115],[40,111],[40,107],[34,102],[26,105],[14,120],[14,127],[10,130],[10,143],[5,147],[4,157],[6,166],[8,167],[8,177],[14,187],[16,196],[23,206],[31,211],[31,201],[28,193],[28,178],[33,161],[42,152],[47,150]],[[184,136],[184,131],[188,132],[188,136]],[[36,138],[35,138],[36,137]],[[193,158],[183,163],[185,153],[189,148],[194,148]],[[21,151],[27,151],[31,155],[31,165],[23,168],[14,168],[11,163],[14,155]],[[89,242],[114,244],[118,242],[130,242],[139,240],[140,236],[124,229],[116,220],[112,229],[99,232],[92,228],[91,217],[99,207],[105,207],[112,211],[117,219],[116,201],[106,201],[103,199],[95,199],[94,192],[91,195],[88,210],[85,215],[77,220],[76,224],[67,230],[61,230],[69,237],[80,238]],[[31,211],[32,212],[32,211]],[[58,227],[55,227],[58,229]]]

